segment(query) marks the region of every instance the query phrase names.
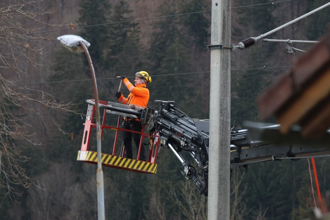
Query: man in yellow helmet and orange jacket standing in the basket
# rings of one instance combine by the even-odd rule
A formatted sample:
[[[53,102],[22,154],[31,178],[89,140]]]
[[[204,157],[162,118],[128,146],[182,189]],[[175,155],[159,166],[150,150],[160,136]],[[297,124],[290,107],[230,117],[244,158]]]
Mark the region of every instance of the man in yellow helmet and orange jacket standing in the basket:
[[[149,101],[149,90],[147,88],[147,83],[151,82],[151,77],[146,71],[140,71],[135,73],[135,86],[126,78],[126,76],[120,76],[123,80],[125,86],[129,90],[129,95],[125,98],[120,91],[116,92],[116,98],[123,104],[134,105],[135,107],[147,107]],[[124,117],[123,129],[133,130],[133,131],[142,131],[142,124],[139,119],[134,119],[130,117]],[[125,157],[133,158],[132,151],[132,138],[136,145],[136,150],[139,152],[141,134],[129,131],[123,131],[123,141],[125,147]],[[140,158],[139,160],[146,161],[145,148],[142,143]]]

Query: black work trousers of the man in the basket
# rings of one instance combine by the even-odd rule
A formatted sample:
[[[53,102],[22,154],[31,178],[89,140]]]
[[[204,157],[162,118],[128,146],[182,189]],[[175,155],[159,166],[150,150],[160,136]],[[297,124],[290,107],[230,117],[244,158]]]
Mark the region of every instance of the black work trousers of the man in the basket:
[[[134,121],[134,120],[125,120],[123,124],[123,129],[126,130],[133,130],[133,131],[142,131],[142,125],[140,121]],[[141,140],[141,134],[140,133],[134,133],[129,131],[123,131],[123,141],[125,146],[125,157],[126,158],[133,158],[133,150],[132,150],[132,138],[136,145],[136,153],[139,152],[139,146],[140,146],[140,140]],[[146,154],[145,154],[145,148],[142,143],[141,146],[141,152],[140,152],[140,158],[139,160],[146,161]]]

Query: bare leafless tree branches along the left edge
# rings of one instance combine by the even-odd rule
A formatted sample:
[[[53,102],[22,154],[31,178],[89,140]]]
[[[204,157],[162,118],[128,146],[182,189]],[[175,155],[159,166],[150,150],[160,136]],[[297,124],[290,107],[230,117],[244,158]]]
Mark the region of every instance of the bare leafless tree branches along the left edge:
[[[40,42],[48,40],[37,34],[52,26],[42,21],[49,12],[38,5],[42,2],[17,0],[0,8],[0,188],[7,190],[7,197],[12,201],[20,195],[17,185],[29,187],[30,178],[21,167],[21,162],[28,160],[18,150],[17,141],[28,145],[40,145],[32,141],[34,133],[24,117],[14,114],[31,112],[43,117],[35,108],[58,109],[76,113],[72,103],[59,103],[44,91],[26,88],[21,76],[28,74],[28,67],[43,67],[45,51]],[[19,86],[10,80],[16,75]],[[57,124],[54,123],[56,126]],[[5,199],[5,198],[3,198]],[[1,202],[0,202],[1,204]],[[1,206],[0,206],[1,207]]]

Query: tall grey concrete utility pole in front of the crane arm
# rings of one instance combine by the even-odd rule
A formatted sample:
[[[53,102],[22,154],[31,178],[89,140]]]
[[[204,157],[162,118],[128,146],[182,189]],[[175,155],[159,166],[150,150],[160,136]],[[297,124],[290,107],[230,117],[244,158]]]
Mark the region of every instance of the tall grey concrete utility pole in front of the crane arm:
[[[230,0],[212,0],[207,219],[230,219]]]

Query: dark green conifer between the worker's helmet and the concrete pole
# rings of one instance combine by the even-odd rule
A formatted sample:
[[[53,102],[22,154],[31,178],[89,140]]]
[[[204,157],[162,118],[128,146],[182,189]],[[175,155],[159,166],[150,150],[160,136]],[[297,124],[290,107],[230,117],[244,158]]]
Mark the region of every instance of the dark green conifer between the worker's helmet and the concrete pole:
[[[179,11],[174,7],[176,5],[180,8]],[[159,7],[159,14],[202,11],[204,7],[197,1],[189,1],[184,5],[170,1]],[[204,44],[207,28],[208,24],[203,14],[184,16],[182,19],[168,17],[155,22],[150,50],[150,60],[154,69],[152,75],[155,77],[152,82],[150,100],[172,100],[176,102],[177,107],[191,117],[205,116],[197,108],[201,105],[203,95],[200,89],[201,77],[179,73],[196,71],[193,53],[197,51],[189,48],[189,41],[193,41],[197,46]]]

